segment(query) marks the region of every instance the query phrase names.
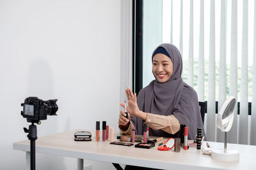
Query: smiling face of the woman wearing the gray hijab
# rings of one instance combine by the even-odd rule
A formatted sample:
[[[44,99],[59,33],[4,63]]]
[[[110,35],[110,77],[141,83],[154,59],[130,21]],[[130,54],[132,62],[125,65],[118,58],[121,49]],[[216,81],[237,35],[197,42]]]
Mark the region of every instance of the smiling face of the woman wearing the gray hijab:
[[[163,53],[157,53],[153,57],[152,70],[160,83],[168,81],[173,73],[172,60]]]

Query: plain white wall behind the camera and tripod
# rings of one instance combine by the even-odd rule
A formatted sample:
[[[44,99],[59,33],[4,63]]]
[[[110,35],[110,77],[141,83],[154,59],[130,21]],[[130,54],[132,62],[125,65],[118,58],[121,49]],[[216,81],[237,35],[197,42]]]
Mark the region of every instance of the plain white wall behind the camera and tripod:
[[[0,169],[25,169],[12,143],[28,139],[20,103],[58,99],[58,116],[37,125],[38,137],[117,129],[120,98],[120,1],[0,0]],[[74,169],[76,159],[36,154],[36,169]],[[113,169],[93,162],[93,169]]]

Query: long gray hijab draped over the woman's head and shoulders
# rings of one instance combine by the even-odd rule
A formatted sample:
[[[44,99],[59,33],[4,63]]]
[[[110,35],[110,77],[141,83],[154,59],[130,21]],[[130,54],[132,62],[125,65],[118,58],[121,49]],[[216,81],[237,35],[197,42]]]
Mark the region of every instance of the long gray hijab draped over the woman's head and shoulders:
[[[138,94],[140,110],[157,115],[173,115],[179,120],[180,124],[185,124],[189,127],[189,139],[195,138],[198,127],[202,128],[202,135],[205,136],[199,111],[198,96],[195,90],[184,83],[181,78],[182,58],[179,50],[174,45],[167,43],[157,46],[157,48],[159,47],[163,47],[170,55],[170,59],[173,62],[173,73],[170,80],[159,83],[156,79],[140,90]],[[154,57],[154,52],[152,58]],[[133,116],[131,120],[136,127],[136,134],[143,134],[143,120]],[[160,129],[149,128],[150,136],[170,138],[179,137],[178,134],[179,132],[177,134],[168,134]]]

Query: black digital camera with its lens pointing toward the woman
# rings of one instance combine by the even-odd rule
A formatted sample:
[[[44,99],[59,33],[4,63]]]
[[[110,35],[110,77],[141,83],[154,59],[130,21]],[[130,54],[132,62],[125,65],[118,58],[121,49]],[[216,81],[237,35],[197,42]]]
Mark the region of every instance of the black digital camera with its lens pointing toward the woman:
[[[47,119],[47,115],[56,115],[56,111],[58,111],[57,100],[50,99],[43,101],[42,99],[38,99],[38,97],[27,97],[24,103],[21,104],[23,106],[21,115],[27,118],[28,122],[40,123],[40,120]]]

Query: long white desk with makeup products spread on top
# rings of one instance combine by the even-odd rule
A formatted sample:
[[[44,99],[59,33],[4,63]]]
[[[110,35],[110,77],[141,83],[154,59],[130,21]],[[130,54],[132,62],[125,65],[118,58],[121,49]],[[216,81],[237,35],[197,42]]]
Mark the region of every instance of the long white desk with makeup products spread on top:
[[[68,131],[38,138],[36,153],[77,158],[77,168],[80,169],[83,168],[83,159],[159,169],[256,169],[256,146],[228,144],[228,149],[236,149],[240,152],[240,159],[237,162],[220,162],[202,154],[196,148],[189,148],[187,151],[180,148],[180,152],[175,153],[173,149],[159,151],[157,144],[150,149],[109,145],[109,141],[95,142],[94,132],[92,141],[81,142],[74,141],[74,132]],[[223,148],[223,143],[209,142],[209,145]],[[13,143],[13,149],[27,153],[29,169],[29,140]]]

